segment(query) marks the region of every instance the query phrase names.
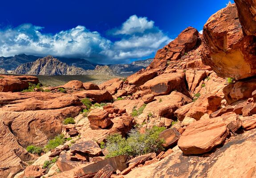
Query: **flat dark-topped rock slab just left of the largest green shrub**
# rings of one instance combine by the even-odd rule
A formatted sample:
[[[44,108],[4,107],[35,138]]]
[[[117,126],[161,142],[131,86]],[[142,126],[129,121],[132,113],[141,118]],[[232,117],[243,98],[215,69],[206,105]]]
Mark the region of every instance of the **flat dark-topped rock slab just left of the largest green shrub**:
[[[102,153],[102,149],[95,141],[89,140],[85,142],[75,143],[73,146],[71,146],[70,152],[99,156]]]

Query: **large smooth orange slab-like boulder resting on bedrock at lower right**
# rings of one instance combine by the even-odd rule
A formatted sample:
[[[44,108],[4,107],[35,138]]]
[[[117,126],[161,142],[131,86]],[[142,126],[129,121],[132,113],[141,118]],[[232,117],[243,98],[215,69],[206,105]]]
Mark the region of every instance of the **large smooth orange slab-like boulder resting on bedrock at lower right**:
[[[199,120],[187,126],[178,146],[184,154],[203,154],[220,145],[227,135],[228,129],[222,119]]]

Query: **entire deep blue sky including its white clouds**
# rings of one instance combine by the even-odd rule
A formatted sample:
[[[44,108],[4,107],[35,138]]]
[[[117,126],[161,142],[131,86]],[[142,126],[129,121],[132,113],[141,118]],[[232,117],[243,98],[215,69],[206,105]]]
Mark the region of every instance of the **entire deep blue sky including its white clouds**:
[[[233,1],[231,1],[233,3]],[[154,57],[188,26],[203,29],[228,0],[8,0],[0,56],[80,57],[102,64]]]

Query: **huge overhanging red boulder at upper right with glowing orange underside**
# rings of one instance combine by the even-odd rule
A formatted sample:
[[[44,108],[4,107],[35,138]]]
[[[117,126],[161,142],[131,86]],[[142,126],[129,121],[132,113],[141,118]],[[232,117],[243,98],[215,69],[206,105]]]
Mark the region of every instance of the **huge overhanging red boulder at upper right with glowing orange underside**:
[[[236,4],[221,9],[207,20],[202,41],[203,63],[210,65],[218,76],[242,79],[256,74],[255,36],[243,33]]]

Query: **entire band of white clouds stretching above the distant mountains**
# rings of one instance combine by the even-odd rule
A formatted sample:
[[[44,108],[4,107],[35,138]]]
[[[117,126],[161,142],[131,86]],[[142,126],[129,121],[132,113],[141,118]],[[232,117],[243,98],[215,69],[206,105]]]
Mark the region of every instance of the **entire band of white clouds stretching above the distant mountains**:
[[[25,53],[38,56],[80,57],[108,64],[129,62],[130,59],[152,56],[171,39],[154,21],[146,17],[130,16],[112,35],[111,41],[98,32],[77,26],[56,34],[42,33],[43,27],[22,24],[16,28],[0,29],[0,56]]]

